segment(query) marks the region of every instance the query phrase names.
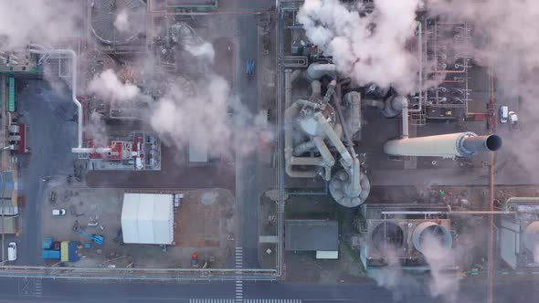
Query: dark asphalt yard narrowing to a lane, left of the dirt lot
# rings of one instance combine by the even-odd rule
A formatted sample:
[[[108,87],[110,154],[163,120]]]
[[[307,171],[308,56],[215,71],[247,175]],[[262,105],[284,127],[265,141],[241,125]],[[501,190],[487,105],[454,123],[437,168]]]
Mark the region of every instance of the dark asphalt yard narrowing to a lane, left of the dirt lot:
[[[16,264],[40,263],[41,204],[44,202],[45,176],[73,172],[71,147],[76,144],[77,124],[72,120],[75,106],[69,89],[55,93],[46,81],[26,80],[29,84],[17,94],[17,107],[29,128],[26,137],[31,153],[22,159],[19,194],[26,196],[21,209],[21,235],[16,240]],[[22,86],[23,81],[19,81]]]

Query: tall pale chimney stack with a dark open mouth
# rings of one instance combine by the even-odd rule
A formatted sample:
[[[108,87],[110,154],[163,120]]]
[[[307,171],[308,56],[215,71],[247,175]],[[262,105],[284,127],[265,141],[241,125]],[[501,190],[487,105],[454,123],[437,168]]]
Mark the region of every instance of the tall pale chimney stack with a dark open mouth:
[[[497,135],[478,136],[466,131],[436,136],[387,141],[384,151],[392,156],[470,157],[478,151],[497,151],[502,138]]]

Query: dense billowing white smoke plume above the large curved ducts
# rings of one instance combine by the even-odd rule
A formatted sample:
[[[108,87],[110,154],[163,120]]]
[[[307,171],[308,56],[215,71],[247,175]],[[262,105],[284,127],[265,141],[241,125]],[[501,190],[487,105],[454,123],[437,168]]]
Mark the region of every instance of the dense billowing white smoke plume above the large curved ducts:
[[[415,35],[419,3],[377,0],[373,13],[360,16],[359,6],[339,0],[306,0],[298,20],[311,42],[357,84],[374,82],[409,93],[417,89],[417,57],[407,43]]]

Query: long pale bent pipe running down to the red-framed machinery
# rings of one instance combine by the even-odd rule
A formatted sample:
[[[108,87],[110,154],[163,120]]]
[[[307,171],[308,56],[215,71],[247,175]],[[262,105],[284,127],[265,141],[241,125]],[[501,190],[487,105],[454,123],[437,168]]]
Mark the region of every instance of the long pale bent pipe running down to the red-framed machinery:
[[[111,152],[110,148],[83,148],[82,147],[82,104],[80,104],[79,99],[77,99],[77,53],[73,51],[72,49],[46,49],[45,47],[31,44],[29,49],[29,52],[31,54],[37,54],[37,55],[63,55],[63,56],[69,56],[71,57],[71,100],[75,105],[77,106],[78,110],[78,122],[79,122],[79,129],[78,129],[78,142],[77,147],[74,147],[71,149],[72,152],[75,153],[85,153],[85,152],[100,152],[100,153],[106,153]]]

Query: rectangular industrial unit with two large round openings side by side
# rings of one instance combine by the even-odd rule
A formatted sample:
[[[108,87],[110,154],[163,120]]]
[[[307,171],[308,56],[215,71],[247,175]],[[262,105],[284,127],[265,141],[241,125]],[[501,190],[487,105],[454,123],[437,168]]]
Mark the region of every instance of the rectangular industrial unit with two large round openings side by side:
[[[365,269],[426,270],[428,262],[444,258],[453,243],[447,211],[441,204],[363,204],[356,228],[365,237]]]

